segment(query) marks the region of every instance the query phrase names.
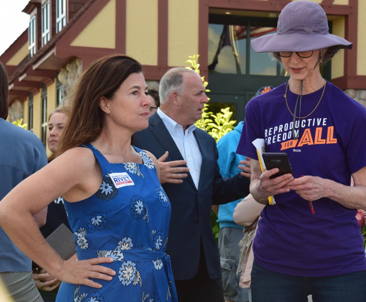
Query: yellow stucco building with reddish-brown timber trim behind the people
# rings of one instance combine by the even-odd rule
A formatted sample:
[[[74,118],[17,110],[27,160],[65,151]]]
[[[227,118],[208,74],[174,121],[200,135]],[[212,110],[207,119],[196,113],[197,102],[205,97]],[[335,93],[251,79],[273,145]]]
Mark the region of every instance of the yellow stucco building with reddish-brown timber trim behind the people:
[[[366,107],[364,0],[313,0],[328,16],[330,33],[353,43],[322,75]],[[146,80],[187,66],[199,53],[211,90],[211,111],[230,107],[243,120],[245,105],[261,86],[288,77],[250,40],[276,31],[290,0],[30,0],[29,28],[0,56],[9,76],[10,120],[23,118],[45,142],[49,112],[63,102],[91,61],[126,53],[140,61]]]

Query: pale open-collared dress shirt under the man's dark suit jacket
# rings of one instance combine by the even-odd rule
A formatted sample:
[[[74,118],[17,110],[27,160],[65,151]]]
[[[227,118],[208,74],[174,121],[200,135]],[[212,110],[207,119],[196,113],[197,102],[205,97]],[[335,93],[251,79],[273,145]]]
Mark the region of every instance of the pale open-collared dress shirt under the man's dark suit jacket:
[[[163,120],[165,127],[167,127],[173,141],[178,147],[178,150],[183,156],[183,159],[187,161],[187,167],[192,176],[193,182],[198,189],[199,175],[202,165],[202,154],[199,150],[198,143],[194,137],[193,130],[196,126],[190,125],[183,131],[183,126],[179,125],[175,120],[169,118],[160,107],[157,109],[157,114]]]

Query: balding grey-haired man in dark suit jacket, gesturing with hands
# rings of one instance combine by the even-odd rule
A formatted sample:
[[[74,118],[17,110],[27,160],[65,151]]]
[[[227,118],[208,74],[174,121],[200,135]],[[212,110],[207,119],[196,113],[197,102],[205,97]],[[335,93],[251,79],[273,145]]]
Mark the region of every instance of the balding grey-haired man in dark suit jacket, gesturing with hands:
[[[150,117],[149,127],[135,133],[135,145],[162,157],[160,181],[172,206],[167,254],[178,300],[222,302],[211,206],[249,194],[249,179],[240,174],[223,179],[215,140],[194,126],[208,102],[197,72],[172,68],[161,79],[159,89],[160,108]]]

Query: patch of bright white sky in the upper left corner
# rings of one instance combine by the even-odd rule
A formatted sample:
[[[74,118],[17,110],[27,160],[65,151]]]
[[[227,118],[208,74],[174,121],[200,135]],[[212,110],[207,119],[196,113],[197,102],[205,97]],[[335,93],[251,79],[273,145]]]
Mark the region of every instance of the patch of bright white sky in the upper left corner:
[[[27,29],[29,15],[22,12],[29,0],[0,0],[0,55]]]

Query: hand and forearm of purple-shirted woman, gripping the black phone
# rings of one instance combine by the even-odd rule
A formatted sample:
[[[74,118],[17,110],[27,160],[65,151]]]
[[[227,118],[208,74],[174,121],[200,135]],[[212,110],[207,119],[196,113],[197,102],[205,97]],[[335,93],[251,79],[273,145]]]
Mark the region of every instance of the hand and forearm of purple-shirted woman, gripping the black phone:
[[[260,204],[268,204],[269,196],[290,191],[285,185],[294,179],[291,174],[284,174],[270,179],[270,176],[279,172],[279,169],[274,168],[262,173],[259,161],[255,159],[250,159],[250,168],[250,193]]]

